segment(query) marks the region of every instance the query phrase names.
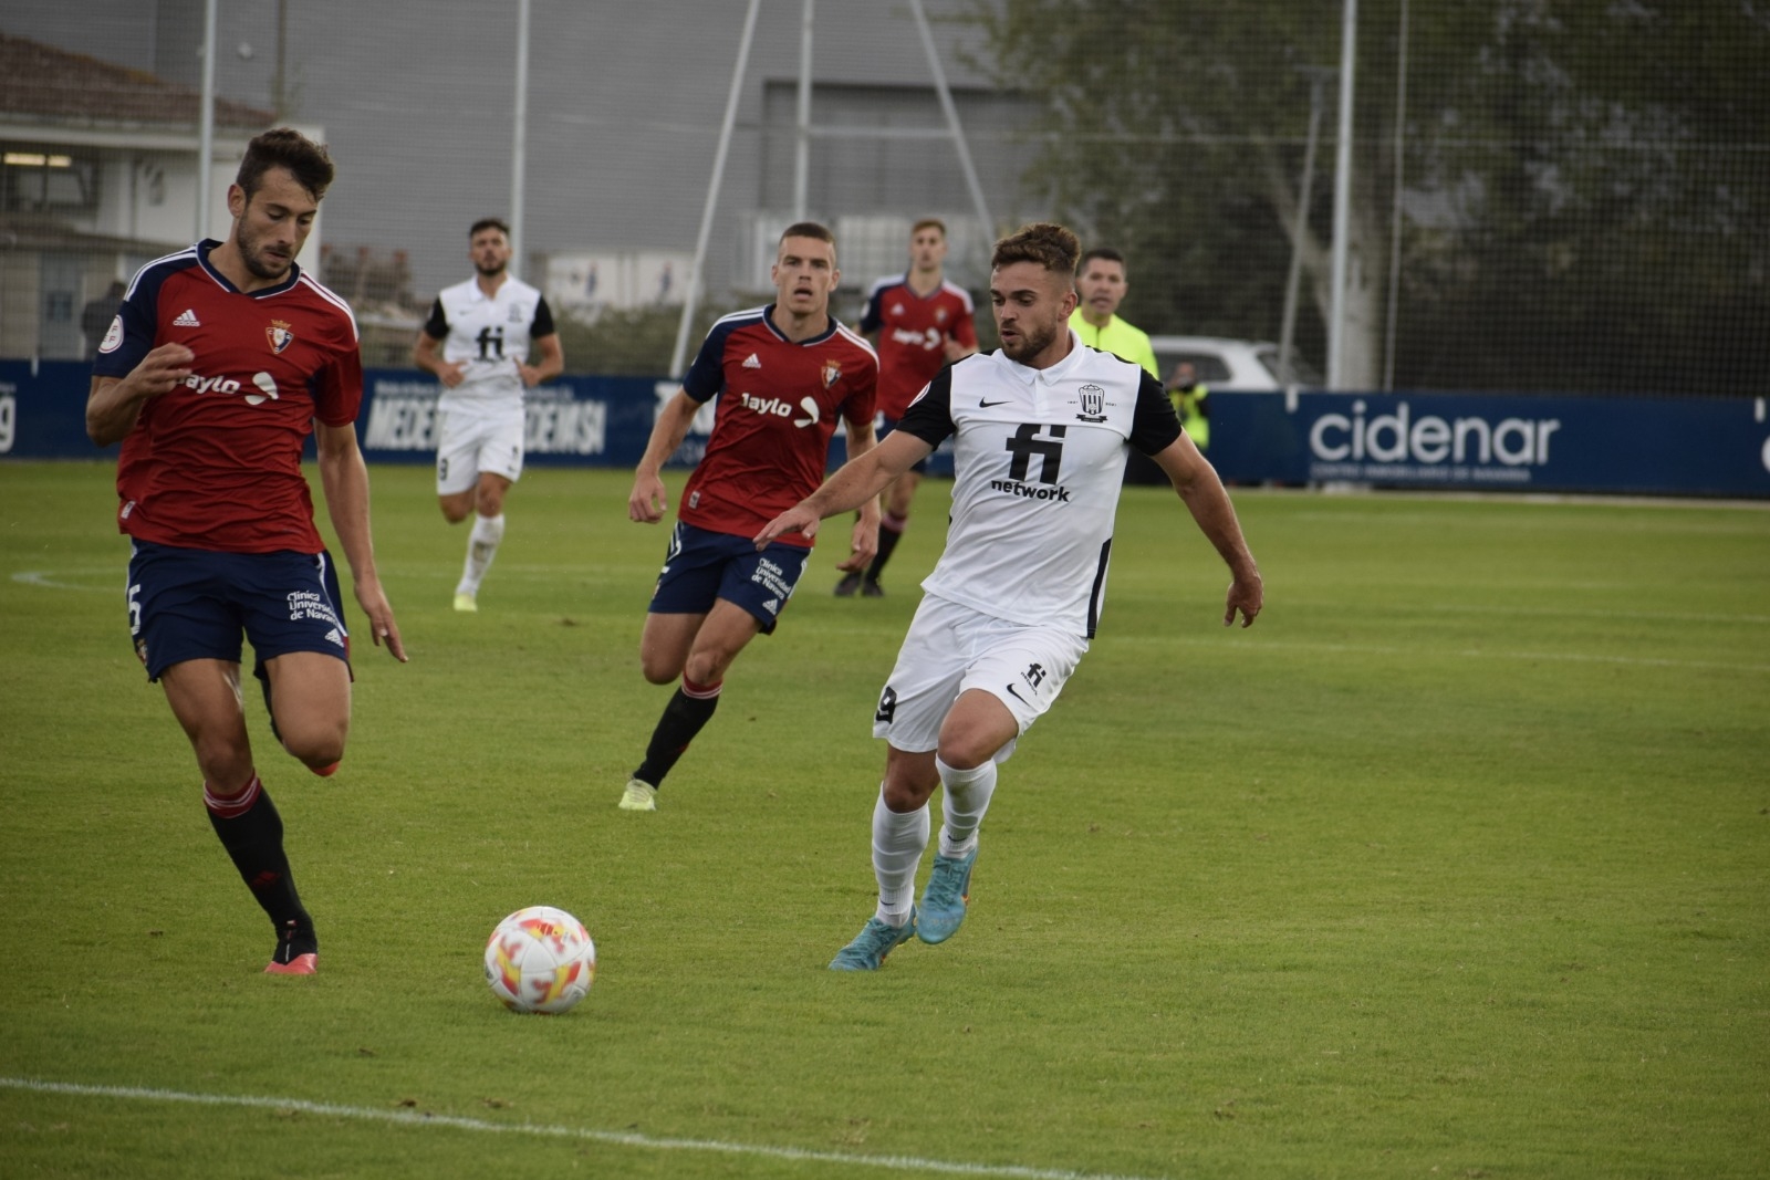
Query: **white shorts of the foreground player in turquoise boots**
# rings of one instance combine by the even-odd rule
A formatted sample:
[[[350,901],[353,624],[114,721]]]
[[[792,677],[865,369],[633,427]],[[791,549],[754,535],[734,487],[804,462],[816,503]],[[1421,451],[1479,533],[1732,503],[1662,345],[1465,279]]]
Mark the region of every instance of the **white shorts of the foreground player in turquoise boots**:
[[[1089,649],[1089,640],[1055,626],[1027,626],[924,594],[897,649],[873,715],[873,736],[906,754],[940,745],[940,724],[968,688],[1007,706],[1020,732],[1044,716]],[[1009,741],[997,754],[1005,762]]]

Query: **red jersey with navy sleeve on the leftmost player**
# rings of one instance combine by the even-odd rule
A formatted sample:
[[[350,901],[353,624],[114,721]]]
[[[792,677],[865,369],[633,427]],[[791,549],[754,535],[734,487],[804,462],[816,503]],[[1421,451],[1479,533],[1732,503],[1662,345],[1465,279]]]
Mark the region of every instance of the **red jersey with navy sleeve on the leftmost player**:
[[[158,545],[317,554],[301,448],[315,418],[356,421],[356,318],[294,265],[276,287],[237,290],[209,265],[218,244],[142,267],[92,364],[120,379],[163,343],[195,354],[184,386],[149,400],[124,441],[119,525]]]

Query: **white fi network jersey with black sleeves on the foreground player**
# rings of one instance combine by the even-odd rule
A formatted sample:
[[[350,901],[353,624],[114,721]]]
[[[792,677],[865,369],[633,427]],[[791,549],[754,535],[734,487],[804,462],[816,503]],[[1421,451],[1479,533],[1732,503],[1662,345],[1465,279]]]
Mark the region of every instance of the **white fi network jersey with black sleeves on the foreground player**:
[[[1181,437],[1161,382],[1083,347],[1051,368],[1000,352],[940,370],[897,430],[954,437],[952,522],[922,589],[1023,624],[1092,639],[1129,448]]]

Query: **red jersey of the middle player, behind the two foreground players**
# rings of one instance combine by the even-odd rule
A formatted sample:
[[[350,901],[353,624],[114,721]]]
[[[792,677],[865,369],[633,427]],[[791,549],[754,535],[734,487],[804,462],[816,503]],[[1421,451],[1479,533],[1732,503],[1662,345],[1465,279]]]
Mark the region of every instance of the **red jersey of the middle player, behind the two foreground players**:
[[[873,423],[873,345],[835,317],[820,336],[793,341],[772,313],[768,304],[713,324],[681,380],[696,402],[719,398],[706,456],[678,510],[699,529],[756,536],[823,483],[837,419]],[[781,540],[811,548],[800,533]]]

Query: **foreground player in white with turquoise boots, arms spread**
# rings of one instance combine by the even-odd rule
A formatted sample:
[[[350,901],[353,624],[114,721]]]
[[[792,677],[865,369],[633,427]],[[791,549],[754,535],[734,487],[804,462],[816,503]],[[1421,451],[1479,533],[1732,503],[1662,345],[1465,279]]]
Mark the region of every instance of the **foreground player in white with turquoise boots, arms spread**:
[[[1129,448],[1166,472],[1228,564],[1223,624],[1260,614],[1260,571],[1235,510],[1161,382],[1069,329],[1078,253],[1076,235],[1050,223],[998,241],[989,301],[1002,349],[936,373],[890,435],[756,536],[758,547],[811,536],[954,437],[947,548],[922,582],[873,718],[873,736],[887,741],[873,808],[878,909],[832,969],[874,971],[912,934],[940,943],[965,920],[997,764],[1051,708],[1094,637]],[[915,906],[936,785],[940,846]]]

